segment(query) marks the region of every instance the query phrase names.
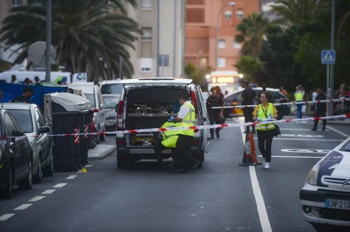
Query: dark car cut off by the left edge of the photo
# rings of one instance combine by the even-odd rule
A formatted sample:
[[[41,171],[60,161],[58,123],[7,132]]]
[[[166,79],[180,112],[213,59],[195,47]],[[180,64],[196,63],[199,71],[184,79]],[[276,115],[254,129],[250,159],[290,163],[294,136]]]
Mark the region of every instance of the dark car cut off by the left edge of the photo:
[[[0,109],[0,192],[12,198],[12,187],[20,190],[32,188],[33,152],[27,136],[15,117]],[[12,136],[14,138],[6,138]]]

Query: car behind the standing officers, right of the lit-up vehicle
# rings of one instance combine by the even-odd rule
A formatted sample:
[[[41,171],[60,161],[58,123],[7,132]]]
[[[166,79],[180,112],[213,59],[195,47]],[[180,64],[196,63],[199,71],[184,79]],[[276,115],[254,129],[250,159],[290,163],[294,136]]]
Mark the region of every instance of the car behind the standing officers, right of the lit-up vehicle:
[[[252,88],[255,93],[256,97],[260,95],[261,92],[263,92],[263,88],[261,87],[253,87]],[[279,91],[279,89],[273,89],[273,88],[267,88],[266,89],[271,94],[270,102],[271,103],[285,103],[288,102],[288,98],[283,95]],[[237,90],[227,97],[224,98],[224,104],[225,106],[231,106],[231,105],[242,105],[242,92],[243,89]],[[253,100],[254,104],[258,104],[258,98]],[[284,115],[288,115],[290,113],[290,108],[288,105],[278,105],[276,106],[278,110],[278,120],[282,119]],[[243,109],[242,108],[228,108],[225,111],[226,117],[235,117],[235,116],[242,116],[243,115]]]

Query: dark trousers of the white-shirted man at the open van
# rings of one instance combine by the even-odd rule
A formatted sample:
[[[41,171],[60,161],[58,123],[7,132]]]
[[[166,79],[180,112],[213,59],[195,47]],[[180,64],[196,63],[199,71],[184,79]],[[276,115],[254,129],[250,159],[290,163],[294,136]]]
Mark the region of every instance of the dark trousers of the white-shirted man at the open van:
[[[178,141],[176,142],[177,154],[181,156],[181,159],[183,160],[183,168],[185,169],[191,168],[195,162],[198,162],[190,152],[192,141],[193,136],[180,134]]]

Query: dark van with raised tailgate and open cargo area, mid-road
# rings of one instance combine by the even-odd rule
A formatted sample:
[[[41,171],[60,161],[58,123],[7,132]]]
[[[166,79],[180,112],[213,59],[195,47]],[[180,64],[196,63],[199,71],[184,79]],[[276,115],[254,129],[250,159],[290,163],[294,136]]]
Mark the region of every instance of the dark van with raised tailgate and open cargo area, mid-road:
[[[147,78],[122,80],[125,86],[116,106],[117,131],[160,127],[170,116],[177,116],[178,97],[187,94],[196,110],[195,125],[210,124],[199,85],[190,79]],[[208,129],[195,130],[191,153],[201,162],[208,145]],[[126,168],[128,161],[156,159],[157,133],[117,133],[117,166]],[[163,153],[169,158],[171,151]]]

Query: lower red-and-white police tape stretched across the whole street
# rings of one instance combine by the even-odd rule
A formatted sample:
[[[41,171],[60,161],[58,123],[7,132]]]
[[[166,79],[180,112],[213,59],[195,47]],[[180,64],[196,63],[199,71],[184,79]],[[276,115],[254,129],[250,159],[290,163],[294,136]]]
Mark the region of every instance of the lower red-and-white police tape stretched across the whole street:
[[[349,119],[350,113],[327,116],[327,117],[315,117],[315,118],[304,118],[304,119],[285,119],[285,120],[273,120],[273,121],[262,121],[253,123],[234,123],[234,124],[214,124],[214,125],[201,125],[192,127],[169,127],[169,128],[150,128],[150,129],[139,129],[139,130],[125,130],[125,131],[110,131],[110,132],[92,132],[92,133],[77,133],[77,134],[56,134],[56,135],[45,135],[45,136],[77,136],[77,135],[115,135],[115,134],[136,134],[143,132],[163,132],[163,131],[180,131],[180,130],[202,130],[202,129],[214,129],[214,128],[233,128],[241,126],[253,126],[253,125],[264,125],[269,123],[291,123],[291,122],[301,122],[301,121],[316,121],[316,120],[329,120],[329,119]],[[43,135],[32,135],[31,137],[41,137]],[[12,136],[1,137],[4,138],[15,138]]]

